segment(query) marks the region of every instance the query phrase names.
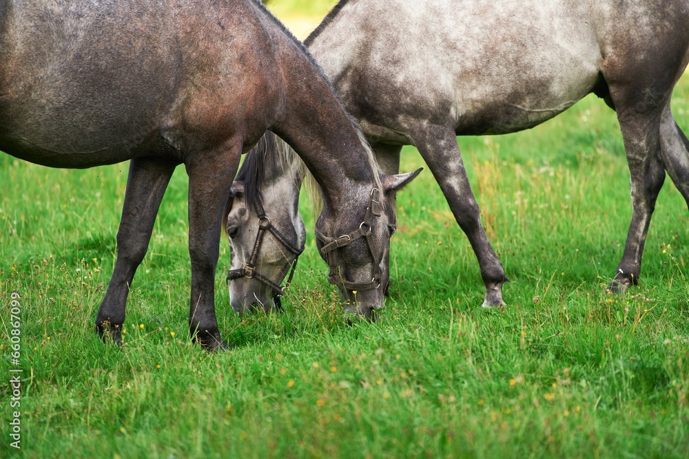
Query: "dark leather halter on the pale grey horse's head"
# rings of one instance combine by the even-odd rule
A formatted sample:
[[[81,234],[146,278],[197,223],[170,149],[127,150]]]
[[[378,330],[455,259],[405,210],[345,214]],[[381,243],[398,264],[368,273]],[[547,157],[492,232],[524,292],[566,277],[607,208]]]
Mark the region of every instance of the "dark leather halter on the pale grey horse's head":
[[[292,281],[292,277],[294,277],[294,268],[296,268],[299,255],[301,255],[301,253],[304,251],[304,248],[296,248],[295,246],[290,244],[290,242],[287,240],[287,237],[282,235],[282,233],[280,233],[280,231],[278,231],[278,229],[275,226],[273,226],[273,224],[270,222],[270,219],[265,216],[265,211],[263,210],[263,206],[260,203],[256,203],[256,213],[258,213],[258,233],[256,233],[256,242],[254,242],[254,250],[251,251],[249,261],[243,266],[243,268],[231,269],[227,271],[227,282],[229,284],[229,281],[233,281],[234,279],[240,279],[240,277],[247,277],[247,279],[257,279],[258,281],[263,282],[263,284],[273,289],[273,292],[275,293],[274,301],[276,303],[276,306],[279,308],[280,297],[282,296],[282,293],[285,292],[285,289],[289,287],[289,284]],[[292,266],[289,268],[289,276],[287,277],[287,282],[285,283],[284,287],[280,287],[279,284],[276,284],[274,281],[271,281],[267,277],[256,272],[256,259],[258,258],[258,250],[260,250],[260,246],[261,244],[263,244],[263,237],[265,236],[266,231],[271,233],[271,235],[273,235],[273,237],[275,237],[275,239],[277,239],[278,242],[282,244],[282,246],[285,246],[287,250],[296,255],[294,263],[292,263]]]

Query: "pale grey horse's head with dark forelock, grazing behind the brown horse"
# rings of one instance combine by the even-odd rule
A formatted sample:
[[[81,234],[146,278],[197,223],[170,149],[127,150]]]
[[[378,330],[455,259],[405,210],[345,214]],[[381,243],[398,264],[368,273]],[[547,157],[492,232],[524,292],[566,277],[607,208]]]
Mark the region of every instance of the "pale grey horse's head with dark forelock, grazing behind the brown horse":
[[[247,153],[225,209],[227,282],[230,303],[238,313],[280,309],[282,292],[304,250],[306,233],[298,210],[300,161],[291,152],[289,158],[281,156],[278,145],[285,144],[278,144],[268,131]]]

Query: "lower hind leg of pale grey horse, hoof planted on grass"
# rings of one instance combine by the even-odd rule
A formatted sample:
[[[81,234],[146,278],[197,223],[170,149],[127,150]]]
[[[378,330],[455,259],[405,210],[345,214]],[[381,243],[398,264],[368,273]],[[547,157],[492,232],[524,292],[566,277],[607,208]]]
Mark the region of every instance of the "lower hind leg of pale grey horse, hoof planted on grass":
[[[630,172],[632,221],[617,273],[608,286],[612,292],[624,292],[639,282],[648,226],[665,181],[665,168],[660,158],[659,116],[659,113],[625,116],[618,111]]]

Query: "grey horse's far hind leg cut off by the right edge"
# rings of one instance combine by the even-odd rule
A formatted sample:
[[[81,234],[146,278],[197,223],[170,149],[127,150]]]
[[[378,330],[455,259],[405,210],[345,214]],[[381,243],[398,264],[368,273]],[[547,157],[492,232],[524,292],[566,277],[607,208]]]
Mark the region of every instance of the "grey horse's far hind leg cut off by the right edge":
[[[689,206],[689,140],[672,118],[670,103],[660,121],[660,147],[665,170]]]

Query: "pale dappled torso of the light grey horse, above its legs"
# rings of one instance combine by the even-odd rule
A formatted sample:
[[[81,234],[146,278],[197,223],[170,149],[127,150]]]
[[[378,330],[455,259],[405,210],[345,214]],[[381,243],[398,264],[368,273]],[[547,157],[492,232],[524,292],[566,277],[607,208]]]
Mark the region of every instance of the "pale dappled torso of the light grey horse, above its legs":
[[[662,15],[669,6],[672,19]],[[677,73],[686,8],[679,0],[350,0],[309,40],[367,135],[404,143],[422,121],[457,134],[533,127],[599,88],[610,56],[626,64],[620,72],[652,67],[637,53]],[[661,30],[672,40],[663,52],[653,36]]]

